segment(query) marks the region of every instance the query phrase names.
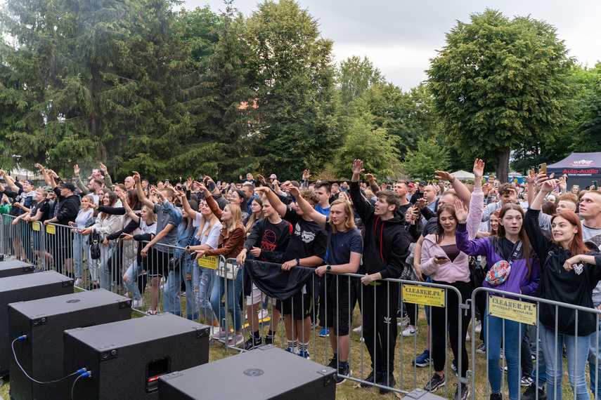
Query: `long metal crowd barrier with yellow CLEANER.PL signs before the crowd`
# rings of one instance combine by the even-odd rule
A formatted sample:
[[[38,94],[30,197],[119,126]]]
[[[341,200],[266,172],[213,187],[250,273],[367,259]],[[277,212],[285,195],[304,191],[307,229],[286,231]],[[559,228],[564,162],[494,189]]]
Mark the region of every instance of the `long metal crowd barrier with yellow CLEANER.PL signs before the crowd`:
[[[259,304],[252,306],[252,302],[247,300],[248,295],[252,293],[245,293],[245,274],[243,266],[238,269],[238,276],[235,281],[226,279],[228,265],[231,267],[235,262],[234,259],[225,259],[222,256],[219,257],[202,257],[200,260],[191,261],[190,255],[183,253],[184,248],[178,246],[163,246],[163,250],[169,248],[167,253],[175,253],[176,251],[183,254],[180,257],[180,265],[174,269],[169,268],[168,258],[163,258],[162,262],[167,262],[164,265],[164,275],[162,279],[153,279],[151,266],[159,262],[161,255],[157,250],[156,246],[150,249],[146,258],[143,259],[142,265],[138,265],[136,260],[137,246],[136,241],[123,241],[116,239],[110,241],[108,246],[103,246],[101,239],[101,257],[98,260],[92,260],[89,253],[89,242],[86,238],[89,236],[83,236],[77,230],[72,227],[65,225],[49,224],[43,225],[41,223],[27,223],[19,220],[13,225],[14,217],[11,215],[1,215],[1,228],[0,228],[0,252],[8,255],[8,257],[21,258],[29,260],[34,265],[37,265],[39,269],[56,269],[58,272],[64,274],[73,274],[76,279],[76,287],[81,290],[89,290],[91,288],[103,287],[107,290],[114,291],[115,293],[121,293],[123,295],[130,295],[133,300],[133,309],[136,312],[143,314],[150,314],[153,311],[156,312],[172,312],[173,314],[182,316],[184,318],[193,319],[195,321],[203,322],[209,326],[219,324],[221,330],[224,332],[223,335],[219,335],[221,331],[217,328],[212,330],[214,333],[213,342],[221,343],[224,345],[226,352],[235,350],[238,352],[246,351],[243,348],[244,340],[250,338],[252,334],[252,326],[255,329],[258,328],[261,334],[261,345],[266,344],[266,332],[268,329],[273,330],[274,337],[276,338],[275,345],[279,345],[283,349],[287,349],[287,336],[290,336],[292,340],[298,340],[300,343],[308,343],[307,350],[311,354],[311,359],[314,361],[327,365],[328,360],[332,354],[341,354],[342,347],[347,347],[349,353],[348,360],[351,362],[351,375],[347,376],[346,379],[352,382],[363,383],[369,386],[379,387],[382,389],[389,389],[399,394],[406,394],[411,392],[415,388],[421,388],[425,382],[432,376],[434,368],[430,364],[427,368],[427,378],[423,378],[423,373],[418,371],[425,371],[424,369],[418,370],[418,366],[412,365],[411,360],[407,359],[408,356],[404,354],[405,349],[411,346],[413,352],[413,359],[417,358],[420,354],[418,349],[418,335],[424,334],[422,331],[418,331],[418,335],[412,338],[405,338],[402,335],[403,327],[401,326],[396,332],[396,335],[400,336],[400,339],[396,337],[396,340],[388,341],[386,339],[387,332],[394,333],[397,331],[396,326],[396,312],[397,309],[402,309],[404,305],[411,305],[411,312],[415,312],[415,308],[420,305],[427,307],[441,307],[445,309],[444,312],[444,326],[448,326],[448,321],[455,318],[458,319],[458,349],[461,349],[462,341],[465,338],[461,338],[462,331],[462,314],[470,313],[472,318],[472,329],[471,329],[471,351],[468,351],[470,355],[470,368],[468,368],[467,376],[458,378],[458,382],[462,382],[470,385],[471,398],[476,398],[477,389],[477,377],[486,375],[484,385],[486,389],[479,387],[479,391],[486,392],[486,398],[489,397],[489,375],[488,366],[489,361],[486,360],[485,371],[478,371],[476,364],[476,342],[477,332],[475,331],[476,326],[476,311],[477,297],[484,296],[486,298],[487,312],[481,310],[481,318],[484,326],[482,330],[485,335],[486,329],[489,326],[487,319],[489,316],[498,316],[507,321],[517,321],[522,324],[528,324],[531,326],[531,352],[534,355],[534,382],[540,382],[541,371],[538,366],[541,366],[541,355],[542,351],[539,345],[538,336],[538,305],[541,303],[547,303],[555,306],[556,315],[561,312],[560,308],[574,309],[576,312],[576,324],[578,321],[579,313],[590,312],[601,316],[601,311],[597,309],[588,309],[586,307],[579,307],[575,305],[568,305],[560,302],[552,302],[550,300],[534,298],[527,295],[517,295],[515,293],[506,293],[503,291],[496,291],[490,288],[477,288],[473,291],[471,299],[461,298],[460,292],[457,288],[448,285],[417,282],[417,281],[403,281],[401,279],[384,279],[377,282],[374,286],[366,287],[361,284],[362,275],[359,274],[325,274],[321,279],[316,277],[315,279],[309,280],[306,285],[307,290],[300,296],[302,304],[309,303],[310,307],[310,318],[311,318],[311,329],[307,331],[303,328],[302,323],[292,322],[289,324],[290,333],[285,332],[283,326],[287,322],[282,322],[282,318],[279,312],[276,312],[275,300],[267,299],[271,302],[271,305],[266,307],[269,314],[264,315],[264,312],[259,313],[259,318],[252,323],[251,316],[246,316],[245,312],[250,311],[251,314],[257,314],[255,311],[258,307],[265,307],[264,296],[261,296]],[[144,242],[143,242],[144,243]],[[146,242],[147,243],[147,242]],[[186,276],[186,271],[191,265],[191,274]],[[124,274],[127,274],[129,279],[124,281]],[[327,278],[326,278],[327,276]],[[188,279],[189,278],[189,279]],[[242,281],[242,282],[241,282]],[[234,293],[232,293],[232,291]],[[382,293],[384,291],[384,293]],[[394,297],[394,293],[399,295]],[[155,309],[153,309],[153,293],[156,293],[157,301],[155,302]],[[211,296],[213,293],[213,302]],[[457,296],[460,303],[458,314],[449,315],[448,308],[448,295],[453,293]],[[486,293],[496,293],[498,296],[490,296]],[[327,295],[326,295],[327,294]],[[387,307],[382,310],[375,307],[375,302],[366,301],[366,296],[371,295],[374,298],[382,296],[386,302]],[[309,296],[309,298],[307,298]],[[510,296],[512,298],[518,298],[519,300],[507,299]],[[185,298],[185,300],[184,300]],[[491,300],[492,298],[492,300]],[[496,298],[496,299],[495,299]],[[494,302],[493,300],[503,299],[502,302]],[[344,300],[344,301],[343,301]],[[481,299],[482,300],[482,299]],[[295,307],[294,298],[291,300],[291,307]],[[330,305],[330,302],[335,301],[336,304]],[[396,309],[391,307],[396,302],[398,306]],[[233,304],[232,304],[233,303]],[[502,303],[502,304],[498,304]],[[378,320],[383,319],[387,325],[387,329],[384,329],[383,334],[380,338],[377,335],[366,334],[366,331],[361,331],[360,338],[363,340],[365,336],[372,338],[368,342],[358,342],[356,335],[352,333],[352,328],[357,325],[357,321],[354,321],[353,314],[355,307],[359,307],[360,310],[366,310],[367,305],[370,304],[370,314],[372,314],[370,321],[367,321],[366,312],[360,313],[358,323],[361,326],[377,326]],[[340,306],[342,305],[342,306]],[[349,307],[344,307],[349,305]],[[471,306],[474,307],[471,307]],[[298,306],[298,305],[297,305]],[[331,306],[331,307],[330,307]],[[321,307],[321,309],[320,309]],[[342,311],[339,311],[337,307],[341,307]],[[471,310],[470,310],[471,307]],[[238,311],[239,308],[239,311]],[[230,311],[231,309],[231,311]],[[410,307],[407,307],[408,311]],[[526,311],[524,311],[526,310]],[[534,312],[532,311],[534,310]],[[335,315],[330,315],[334,312]],[[345,318],[342,318],[341,313],[347,313]],[[335,318],[334,318],[335,317]],[[341,320],[348,320],[348,325],[342,326]],[[415,315],[415,320],[417,316]],[[340,335],[340,338],[320,338],[318,332],[321,330],[319,324],[324,324],[324,321],[330,322],[330,333],[333,335],[334,331],[345,333],[348,327],[349,338],[344,338],[346,335]],[[557,321],[557,319],[556,319]],[[417,322],[415,322],[417,326]],[[280,326],[281,325],[281,326]],[[328,325],[328,324],[325,324]],[[306,325],[304,325],[306,326]],[[299,327],[301,331],[299,331]],[[236,328],[239,328],[238,330]],[[429,326],[429,329],[432,328]],[[240,343],[239,337],[236,337],[236,331],[240,331],[243,335],[243,342]],[[593,333],[591,342],[595,343],[595,348],[598,347],[599,343],[599,324],[596,326],[596,331]],[[430,339],[427,342],[427,347],[432,349],[432,331],[430,331]],[[511,332],[510,332],[511,333]],[[499,334],[499,332],[495,332]],[[505,322],[503,322],[503,329],[500,331],[503,339],[505,339]],[[228,343],[233,337],[231,343]],[[334,340],[340,339],[340,340]],[[331,342],[330,342],[331,340]],[[375,359],[377,364],[380,361],[384,361],[385,373],[389,373],[389,366],[394,366],[394,375],[397,380],[395,387],[387,387],[374,382],[367,382],[367,375],[372,370],[371,359],[369,354],[366,354],[368,347],[376,347],[378,340],[384,343],[385,349],[382,349],[381,354],[386,354],[385,360]],[[557,348],[558,335],[555,331],[555,348]],[[332,342],[335,343],[335,347],[332,347]],[[341,344],[344,343],[344,344]],[[391,342],[396,345],[394,353],[390,352]],[[406,344],[409,342],[409,345]],[[464,342],[465,343],[465,342]],[[488,352],[488,348],[486,351]],[[410,352],[410,353],[411,353]],[[360,360],[360,365],[352,365],[352,362],[356,363]],[[369,352],[367,352],[369,353]],[[447,377],[447,385],[444,389],[444,397],[448,397],[448,376],[449,367],[451,363],[448,361],[448,352],[445,352],[445,367],[444,374]],[[394,354],[394,364],[390,359],[391,354]],[[431,356],[432,357],[432,356]],[[594,382],[599,382],[599,360],[598,356],[594,357],[595,361],[590,367],[591,371],[595,371],[591,375],[591,379]],[[351,361],[354,360],[354,361]],[[519,356],[519,364],[522,362],[522,356]],[[575,362],[578,360],[576,359]],[[456,360],[456,370],[461,371],[462,359],[458,357]],[[505,361],[501,361],[501,366],[505,365]],[[542,367],[541,367],[542,368]],[[507,377],[506,373],[502,371],[501,375],[501,392],[506,392]],[[418,378],[421,376],[421,378]],[[594,378],[593,378],[594,377]],[[521,374],[520,374],[521,378]],[[479,380],[482,382],[482,380]],[[482,383],[478,383],[482,385]],[[598,385],[597,385],[598,386]],[[556,389],[555,389],[556,390]],[[519,390],[521,396],[522,390]],[[574,394],[574,397],[576,395]],[[503,395],[505,398],[505,395]]]

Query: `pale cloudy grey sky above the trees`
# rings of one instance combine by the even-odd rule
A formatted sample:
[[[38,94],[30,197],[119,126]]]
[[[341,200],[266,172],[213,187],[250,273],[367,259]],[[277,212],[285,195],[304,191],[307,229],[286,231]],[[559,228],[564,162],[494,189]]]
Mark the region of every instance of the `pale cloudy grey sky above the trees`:
[[[508,16],[530,15],[557,28],[570,55],[589,67],[601,60],[601,1],[599,0],[297,0],[320,22],[321,33],[334,41],[337,62],[351,55],[366,55],[388,81],[404,91],[426,79],[425,69],[436,50],[444,46],[445,33],[455,21],[469,21],[471,13],[498,9]],[[245,16],[257,10],[258,1],[238,0],[234,6]],[[208,5],[219,12],[221,0],[187,0],[191,9]]]

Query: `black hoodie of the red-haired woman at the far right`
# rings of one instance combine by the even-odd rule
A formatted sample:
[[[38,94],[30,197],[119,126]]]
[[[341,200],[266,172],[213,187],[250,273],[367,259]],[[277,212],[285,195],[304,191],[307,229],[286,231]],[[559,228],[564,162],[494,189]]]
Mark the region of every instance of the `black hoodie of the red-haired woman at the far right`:
[[[595,255],[596,265],[584,264],[581,274],[576,271],[566,271],[564,262],[571,257],[568,250],[554,244],[541,232],[538,225],[540,210],[529,209],[524,217],[524,227],[530,244],[538,258],[541,259],[543,276],[534,295],[538,298],[555,300],[571,305],[593,308],[593,288],[601,280],[601,254]],[[540,303],[539,316],[541,324],[551,331],[555,330],[557,316],[557,332],[563,335],[576,334],[576,312],[570,308],[560,308],[555,312],[555,305]],[[578,313],[578,335],[586,336],[595,331],[597,316],[589,312]]]

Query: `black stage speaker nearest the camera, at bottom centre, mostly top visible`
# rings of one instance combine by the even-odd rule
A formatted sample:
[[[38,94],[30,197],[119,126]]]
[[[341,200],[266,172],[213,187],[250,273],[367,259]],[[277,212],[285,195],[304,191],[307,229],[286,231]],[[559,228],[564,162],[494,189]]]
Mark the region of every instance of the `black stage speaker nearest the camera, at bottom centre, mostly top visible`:
[[[159,378],[159,399],[285,399],[336,397],[336,370],[273,346]]]

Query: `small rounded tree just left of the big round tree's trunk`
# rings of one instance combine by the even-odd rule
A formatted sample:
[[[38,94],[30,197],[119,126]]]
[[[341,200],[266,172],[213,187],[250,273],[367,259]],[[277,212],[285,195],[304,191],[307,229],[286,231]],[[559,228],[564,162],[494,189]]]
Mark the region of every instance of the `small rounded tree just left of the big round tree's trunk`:
[[[416,151],[409,150],[401,168],[411,179],[432,179],[434,171],[446,171],[449,166],[448,149],[436,138],[420,139]]]

